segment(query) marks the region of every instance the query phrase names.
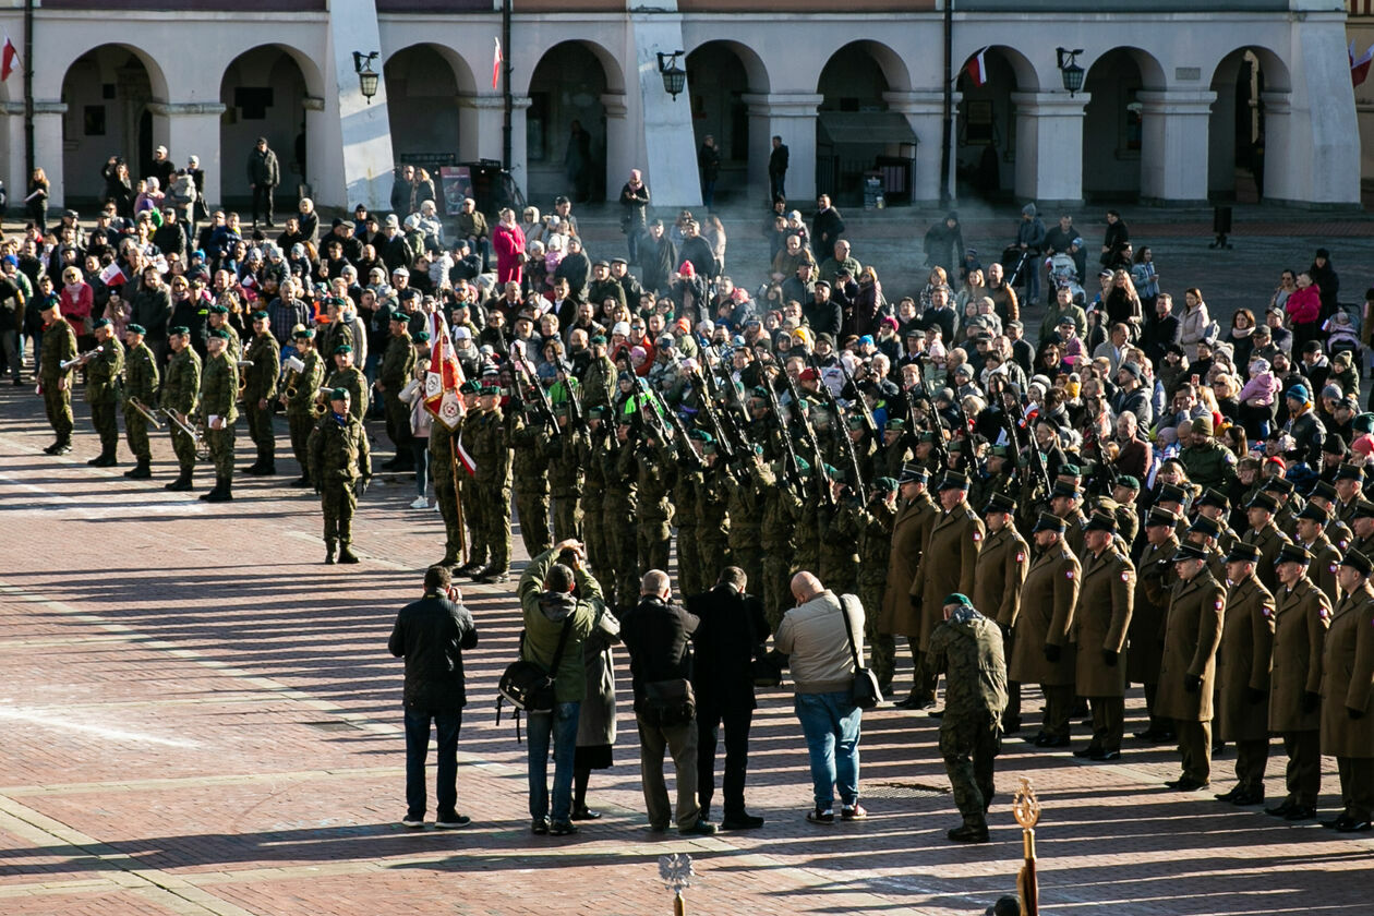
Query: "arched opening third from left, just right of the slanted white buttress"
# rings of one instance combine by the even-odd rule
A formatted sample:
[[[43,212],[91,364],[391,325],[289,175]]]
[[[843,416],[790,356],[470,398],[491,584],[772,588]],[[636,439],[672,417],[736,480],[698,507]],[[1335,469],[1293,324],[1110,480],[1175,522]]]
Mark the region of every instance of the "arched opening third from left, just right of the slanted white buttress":
[[[463,150],[459,108],[459,93],[473,91],[471,73],[448,48],[416,44],[393,54],[383,76],[396,165],[427,169],[437,187],[441,168],[474,158]]]

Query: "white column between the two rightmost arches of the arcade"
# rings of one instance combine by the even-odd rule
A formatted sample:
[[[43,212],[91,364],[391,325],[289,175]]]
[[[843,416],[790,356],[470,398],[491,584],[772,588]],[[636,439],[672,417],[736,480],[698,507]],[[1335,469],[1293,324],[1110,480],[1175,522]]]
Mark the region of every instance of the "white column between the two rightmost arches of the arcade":
[[[1208,128],[1215,92],[1136,93],[1140,203],[1206,206]]]

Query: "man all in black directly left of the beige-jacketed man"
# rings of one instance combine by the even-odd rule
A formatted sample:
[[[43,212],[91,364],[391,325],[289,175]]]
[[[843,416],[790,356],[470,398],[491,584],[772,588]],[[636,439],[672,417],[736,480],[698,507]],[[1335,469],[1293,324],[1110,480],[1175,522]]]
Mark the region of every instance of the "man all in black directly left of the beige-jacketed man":
[[[716,792],[717,729],[725,729],[725,829],[763,827],[764,818],[745,810],[745,773],[749,769],[749,725],[754,717],[753,661],[764,654],[768,621],[764,606],[745,592],[747,580],[738,566],[720,573],[716,588],[687,599],[687,612],[701,625],[692,636],[697,665],[697,799],[709,820]]]

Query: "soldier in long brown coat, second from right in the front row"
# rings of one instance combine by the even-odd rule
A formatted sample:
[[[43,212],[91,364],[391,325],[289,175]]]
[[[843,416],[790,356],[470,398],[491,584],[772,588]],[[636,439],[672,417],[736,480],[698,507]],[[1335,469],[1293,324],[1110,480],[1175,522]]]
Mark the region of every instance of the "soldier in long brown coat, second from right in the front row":
[[[1322,640],[1331,602],[1308,578],[1312,555],[1285,544],[1278,555],[1274,596],[1274,667],[1270,674],[1270,731],[1283,739],[1287,797],[1265,813],[1289,821],[1316,816],[1322,791]]]

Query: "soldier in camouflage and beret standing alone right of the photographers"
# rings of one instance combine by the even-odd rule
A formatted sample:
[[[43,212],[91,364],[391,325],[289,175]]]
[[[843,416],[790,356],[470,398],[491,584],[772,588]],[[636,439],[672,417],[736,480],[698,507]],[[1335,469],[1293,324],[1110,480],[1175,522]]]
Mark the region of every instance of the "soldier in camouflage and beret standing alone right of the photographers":
[[[995,795],[992,765],[1002,750],[1007,707],[1007,663],[998,625],[965,595],[941,603],[944,622],[930,634],[930,666],[945,676],[940,754],[963,824],[947,836],[959,843],[988,840],[988,808]]]

